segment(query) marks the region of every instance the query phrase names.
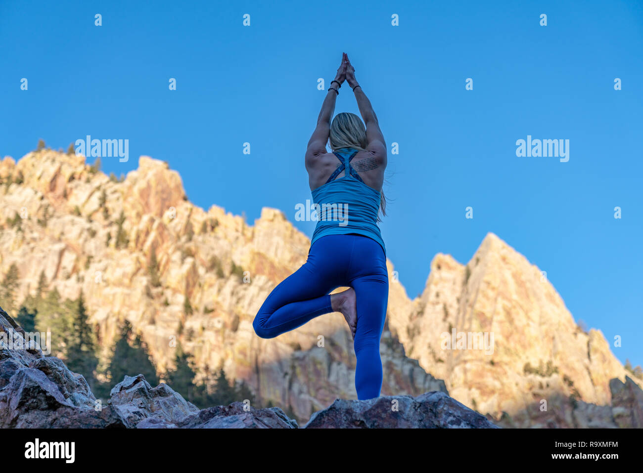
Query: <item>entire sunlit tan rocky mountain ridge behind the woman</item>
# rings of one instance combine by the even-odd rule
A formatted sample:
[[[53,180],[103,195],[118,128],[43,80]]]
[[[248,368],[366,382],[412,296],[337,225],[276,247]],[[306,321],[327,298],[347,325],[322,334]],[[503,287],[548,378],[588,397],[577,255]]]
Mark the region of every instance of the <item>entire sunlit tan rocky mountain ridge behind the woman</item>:
[[[194,356],[197,382],[222,368],[245,380],[258,404],[283,406],[300,423],[335,398],[356,397],[340,314],[276,339],[253,332],[262,301],[307,256],[309,239],[281,211],[262,209],[253,226],[217,206],[205,211],[167,163],[145,156],[118,182],[82,156],[41,150],[0,161],[0,180],[0,273],[17,265],[17,301],[33,294],[41,271],[63,298],[82,290],[103,362],[126,319],[159,373],[172,367],[168,340],[177,339]],[[629,373],[601,331],[577,326],[546,276],[496,235],[466,265],[435,256],[413,300],[387,265],[383,395],[448,392],[516,427],[640,425],[640,404],[613,399],[610,380],[627,384]],[[442,334],[452,331],[493,334],[493,353],[443,349]]]

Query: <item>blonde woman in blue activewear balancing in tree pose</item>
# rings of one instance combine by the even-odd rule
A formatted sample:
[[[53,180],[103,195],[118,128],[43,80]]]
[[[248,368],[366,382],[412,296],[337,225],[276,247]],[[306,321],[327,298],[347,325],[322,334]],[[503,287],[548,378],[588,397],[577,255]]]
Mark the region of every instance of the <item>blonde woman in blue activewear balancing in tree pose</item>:
[[[364,123],[352,113],[340,113],[331,123],[344,81],[355,94]],[[332,153],[326,151],[327,141]],[[270,293],[253,327],[258,336],[272,338],[314,317],[341,312],[354,341],[358,399],[379,397],[379,339],[386,317],[388,272],[377,221],[380,211],[386,215],[381,192],[386,144],[345,53],[321,105],[305,166],[313,202],[319,206],[308,258]],[[350,289],[329,294],[338,287]]]

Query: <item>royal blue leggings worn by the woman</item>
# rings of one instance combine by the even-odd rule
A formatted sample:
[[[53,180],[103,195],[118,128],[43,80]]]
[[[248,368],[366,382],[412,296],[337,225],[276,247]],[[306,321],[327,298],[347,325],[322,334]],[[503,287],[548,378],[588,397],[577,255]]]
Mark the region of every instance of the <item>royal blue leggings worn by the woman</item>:
[[[308,259],[269,294],[253,327],[273,338],[332,312],[329,292],[352,287],[357,299],[355,389],[358,399],[379,397],[382,336],[388,302],[388,271],[382,247],[362,235],[327,235],[311,245]]]

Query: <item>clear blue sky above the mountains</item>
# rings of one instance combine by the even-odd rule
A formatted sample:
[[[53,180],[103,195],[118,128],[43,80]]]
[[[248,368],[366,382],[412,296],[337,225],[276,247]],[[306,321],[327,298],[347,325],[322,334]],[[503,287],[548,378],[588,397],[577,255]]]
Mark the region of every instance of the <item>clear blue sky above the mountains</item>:
[[[0,156],[127,138],[129,162],[105,172],[164,159],[195,204],[250,224],[280,208],[310,236],[294,206],[310,197],[317,79],[330,85],[342,51],[399,143],[381,228],[409,295],[435,253],[467,262],[492,231],[643,363],[642,2],[0,0]],[[348,87],[340,111],[358,113]],[[569,139],[570,160],[516,157],[528,134]]]

